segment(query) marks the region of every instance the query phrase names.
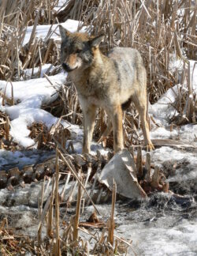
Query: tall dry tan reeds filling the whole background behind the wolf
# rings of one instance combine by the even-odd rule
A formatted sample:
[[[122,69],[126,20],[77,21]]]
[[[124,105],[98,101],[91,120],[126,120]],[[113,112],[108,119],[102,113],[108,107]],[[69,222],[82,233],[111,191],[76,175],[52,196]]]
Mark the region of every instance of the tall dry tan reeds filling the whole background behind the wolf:
[[[81,26],[87,25],[92,35],[106,35],[102,51],[110,47],[135,47],[143,56],[147,67],[147,88],[149,100],[156,102],[168,88],[180,83],[180,95],[174,107],[180,113],[175,120],[178,125],[196,122],[196,92],[188,73],[188,58],[196,56],[196,1],[191,0],[89,0],[65,1],[58,13],[54,1],[0,1],[0,79],[19,80],[24,70],[43,63],[58,65],[58,46],[49,35],[37,39],[35,28],[39,24],[54,24],[68,18],[80,20]],[[28,25],[33,25],[32,36],[23,46],[24,34]],[[173,60],[180,60],[182,66],[173,68]],[[24,77],[25,78],[25,77]],[[186,90],[184,88],[186,85]],[[72,123],[81,123],[80,107],[74,87],[65,87],[65,103],[61,103]],[[127,134],[133,134],[139,126],[138,115],[132,107],[125,116]],[[136,122],[135,120],[136,119]],[[105,128],[106,116],[99,112],[100,136]],[[133,124],[134,123],[134,124]],[[128,136],[129,137],[129,136]],[[135,136],[134,136],[135,137]],[[129,140],[129,143],[137,143]]]

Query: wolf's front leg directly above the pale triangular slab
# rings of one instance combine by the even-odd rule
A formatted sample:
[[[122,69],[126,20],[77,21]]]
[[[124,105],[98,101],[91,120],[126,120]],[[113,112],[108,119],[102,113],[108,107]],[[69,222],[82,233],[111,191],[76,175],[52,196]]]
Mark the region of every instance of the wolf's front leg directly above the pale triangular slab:
[[[113,150],[114,152],[118,152],[124,149],[121,105],[114,106],[110,110],[110,116],[113,124]]]

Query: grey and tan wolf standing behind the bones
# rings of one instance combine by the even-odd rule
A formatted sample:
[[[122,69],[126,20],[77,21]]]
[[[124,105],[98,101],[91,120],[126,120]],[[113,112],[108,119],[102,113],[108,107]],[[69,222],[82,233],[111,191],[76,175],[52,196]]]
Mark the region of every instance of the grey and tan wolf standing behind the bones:
[[[69,32],[59,26],[61,65],[76,86],[84,115],[83,153],[91,150],[91,139],[98,107],[103,108],[113,126],[113,150],[124,148],[122,109],[131,101],[139,111],[144,143],[154,149],[147,124],[147,74],[139,51],[114,47],[103,55],[99,45],[104,36]]]

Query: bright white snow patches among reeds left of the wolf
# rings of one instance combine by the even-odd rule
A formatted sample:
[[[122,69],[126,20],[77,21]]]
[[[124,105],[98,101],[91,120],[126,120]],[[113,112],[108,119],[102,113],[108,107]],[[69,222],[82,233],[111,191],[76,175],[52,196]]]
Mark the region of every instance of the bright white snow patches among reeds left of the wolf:
[[[59,4],[61,5],[62,2]],[[76,32],[79,21],[67,20],[61,24],[70,32]],[[24,44],[28,43],[32,28],[33,26],[27,28]],[[51,38],[61,40],[58,24],[54,24],[52,27],[50,25],[37,25],[36,36],[43,39],[46,38],[50,28],[52,32]],[[82,31],[84,30],[85,28],[82,29]],[[42,104],[50,104],[50,102],[53,102],[58,97],[58,93],[55,92],[58,92],[67,76],[67,73],[58,73],[55,76],[50,76],[50,81],[54,86],[50,85],[50,82],[47,81],[46,78],[43,78],[43,73],[45,73],[50,66],[50,64],[42,66],[41,78],[12,83],[14,106],[6,105],[4,107],[2,106],[2,99],[0,100],[0,110],[5,111],[11,119],[10,134],[13,136],[14,141],[17,141],[17,143],[24,148],[35,144],[35,142],[28,137],[30,133],[28,126],[31,126],[32,122],[44,122],[48,128],[58,122],[58,119],[53,115],[40,109]],[[51,66],[51,68],[53,69],[54,67]],[[27,77],[32,76],[32,69],[24,70],[24,72],[26,72]],[[35,67],[34,73],[38,72],[39,67]],[[0,81],[0,90],[6,92],[6,96],[9,98],[12,96],[12,86],[9,82]],[[64,125],[71,127],[68,122],[64,122]],[[72,126],[72,132],[80,134],[81,137],[82,132],[78,126]]]

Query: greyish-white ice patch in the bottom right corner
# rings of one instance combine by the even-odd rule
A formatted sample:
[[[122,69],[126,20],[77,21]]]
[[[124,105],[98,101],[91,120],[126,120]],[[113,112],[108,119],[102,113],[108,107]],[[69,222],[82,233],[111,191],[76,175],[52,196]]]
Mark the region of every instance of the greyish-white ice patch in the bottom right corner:
[[[168,216],[170,219],[170,217]],[[162,219],[162,220],[161,220]],[[118,233],[132,239],[132,248],[138,255],[196,255],[197,224],[180,220],[168,226],[169,220],[161,218],[156,223],[121,224]],[[172,218],[173,219],[173,218]],[[162,223],[160,223],[162,221]],[[174,218],[172,222],[176,222]],[[132,254],[132,250],[130,250]]]

